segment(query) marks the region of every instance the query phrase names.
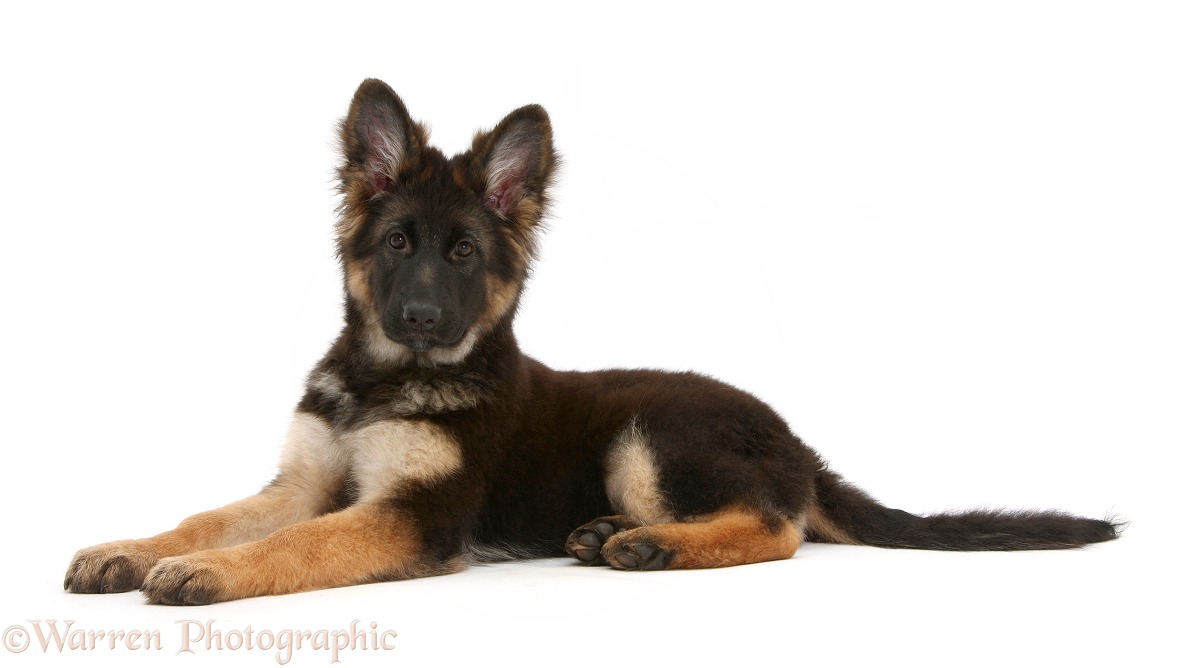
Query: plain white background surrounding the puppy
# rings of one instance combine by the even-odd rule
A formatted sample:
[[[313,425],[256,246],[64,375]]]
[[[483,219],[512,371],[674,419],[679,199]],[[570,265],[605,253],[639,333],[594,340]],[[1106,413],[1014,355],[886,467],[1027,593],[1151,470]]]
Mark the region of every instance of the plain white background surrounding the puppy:
[[[1164,661],[1170,5],[33,7],[0,20],[0,627],[160,629],[164,650],[33,639],[5,666],[274,664],[175,656],[179,619],[399,632],[344,666]],[[517,322],[533,356],[745,387],[912,512],[1131,527],[1077,552],[551,560],[204,609],[64,594],[75,549],[273,475],[340,323],[334,123],[366,76],[447,153],[551,113],[565,166]]]

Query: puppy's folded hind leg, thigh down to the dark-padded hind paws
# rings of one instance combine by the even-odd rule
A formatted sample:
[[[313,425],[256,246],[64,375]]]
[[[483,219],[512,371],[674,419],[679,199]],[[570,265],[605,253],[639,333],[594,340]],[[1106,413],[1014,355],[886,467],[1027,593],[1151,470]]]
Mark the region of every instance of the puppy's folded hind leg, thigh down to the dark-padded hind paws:
[[[690,432],[673,415],[636,418],[604,462],[605,492],[619,514],[572,532],[567,553],[621,570],[791,557],[804,535],[818,460],[771,410],[756,420],[752,409],[730,410],[738,422],[707,416],[711,429]]]

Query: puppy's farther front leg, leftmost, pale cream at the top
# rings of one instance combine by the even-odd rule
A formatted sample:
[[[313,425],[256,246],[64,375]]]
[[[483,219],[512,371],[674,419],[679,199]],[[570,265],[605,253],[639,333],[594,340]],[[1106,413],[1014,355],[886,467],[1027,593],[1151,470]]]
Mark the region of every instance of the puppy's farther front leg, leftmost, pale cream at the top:
[[[254,541],[331,510],[346,477],[332,454],[331,437],[325,422],[297,414],[286,439],[281,474],[260,494],[193,515],[149,539],[79,550],[66,570],[65,588],[75,594],[138,589],[160,559]]]

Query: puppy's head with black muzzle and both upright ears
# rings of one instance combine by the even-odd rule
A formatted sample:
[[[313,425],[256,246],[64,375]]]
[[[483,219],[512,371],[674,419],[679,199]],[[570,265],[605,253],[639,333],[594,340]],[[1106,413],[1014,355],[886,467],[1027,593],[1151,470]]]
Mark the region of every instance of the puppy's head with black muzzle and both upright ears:
[[[447,159],[392,88],[370,79],[340,146],[350,326],[385,362],[461,362],[514,315],[557,162],[547,113],[516,109]]]

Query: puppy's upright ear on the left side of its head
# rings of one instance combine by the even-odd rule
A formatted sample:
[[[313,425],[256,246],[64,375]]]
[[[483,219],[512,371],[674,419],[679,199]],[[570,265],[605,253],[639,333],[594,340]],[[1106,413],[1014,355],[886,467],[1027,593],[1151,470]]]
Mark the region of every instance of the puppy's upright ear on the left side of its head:
[[[387,84],[367,79],[357,88],[340,128],[345,180],[361,180],[373,195],[397,183],[401,171],[427,140]]]

